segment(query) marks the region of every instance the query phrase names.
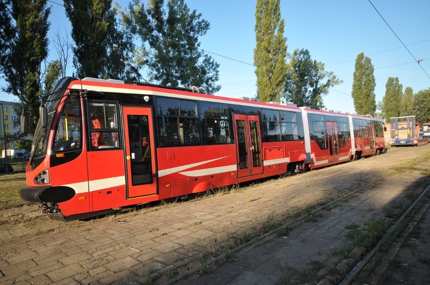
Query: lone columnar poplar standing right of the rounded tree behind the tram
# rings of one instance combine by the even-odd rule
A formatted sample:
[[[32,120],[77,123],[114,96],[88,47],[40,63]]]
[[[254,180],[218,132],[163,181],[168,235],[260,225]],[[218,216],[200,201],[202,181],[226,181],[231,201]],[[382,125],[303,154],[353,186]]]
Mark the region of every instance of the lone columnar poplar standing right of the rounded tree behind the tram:
[[[375,77],[373,64],[369,57],[361,52],[355,59],[354,79],[352,83],[352,98],[354,99],[355,112],[362,115],[374,115],[376,111],[375,101]]]

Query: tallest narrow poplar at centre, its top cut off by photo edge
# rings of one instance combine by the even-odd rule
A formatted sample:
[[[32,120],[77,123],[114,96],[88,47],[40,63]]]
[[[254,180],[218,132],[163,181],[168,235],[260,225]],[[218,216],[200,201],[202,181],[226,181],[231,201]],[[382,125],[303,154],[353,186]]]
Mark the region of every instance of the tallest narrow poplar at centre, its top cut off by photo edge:
[[[257,97],[260,101],[280,101],[286,80],[287,38],[281,19],[280,0],[257,0],[255,6],[254,65]]]

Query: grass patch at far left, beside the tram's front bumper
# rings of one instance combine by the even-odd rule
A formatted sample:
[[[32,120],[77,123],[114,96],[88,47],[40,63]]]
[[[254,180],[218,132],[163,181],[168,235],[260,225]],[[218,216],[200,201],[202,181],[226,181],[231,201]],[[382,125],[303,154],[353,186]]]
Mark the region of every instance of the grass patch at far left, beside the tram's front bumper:
[[[0,209],[13,208],[25,202],[19,196],[19,190],[26,185],[25,173],[2,174],[0,185]]]

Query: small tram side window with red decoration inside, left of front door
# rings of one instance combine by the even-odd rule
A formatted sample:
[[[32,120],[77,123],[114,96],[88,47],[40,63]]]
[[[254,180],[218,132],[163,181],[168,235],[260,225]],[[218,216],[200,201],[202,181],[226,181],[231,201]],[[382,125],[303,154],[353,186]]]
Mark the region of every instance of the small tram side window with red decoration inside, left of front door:
[[[109,150],[120,147],[117,104],[89,102],[89,139],[91,150]]]

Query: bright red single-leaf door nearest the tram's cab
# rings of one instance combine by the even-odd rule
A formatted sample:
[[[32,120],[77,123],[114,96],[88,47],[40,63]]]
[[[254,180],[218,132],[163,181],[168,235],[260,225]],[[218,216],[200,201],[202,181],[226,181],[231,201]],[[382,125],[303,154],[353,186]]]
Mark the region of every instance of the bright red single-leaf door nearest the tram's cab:
[[[127,198],[156,194],[155,152],[149,107],[123,107]]]

